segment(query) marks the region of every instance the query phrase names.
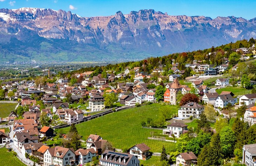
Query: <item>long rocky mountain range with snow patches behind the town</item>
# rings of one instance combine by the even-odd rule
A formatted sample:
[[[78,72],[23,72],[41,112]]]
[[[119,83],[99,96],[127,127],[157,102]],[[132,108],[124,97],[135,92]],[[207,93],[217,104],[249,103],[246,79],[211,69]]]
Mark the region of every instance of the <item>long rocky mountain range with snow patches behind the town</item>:
[[[256,18],[171,16],[153,9],[80,17],[0,9],[0,62],[127,61],[256,38]]]

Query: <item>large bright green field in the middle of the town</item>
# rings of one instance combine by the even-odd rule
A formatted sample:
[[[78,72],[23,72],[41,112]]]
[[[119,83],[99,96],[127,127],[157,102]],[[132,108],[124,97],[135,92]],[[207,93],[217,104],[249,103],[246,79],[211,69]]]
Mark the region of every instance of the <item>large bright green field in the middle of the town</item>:
[[[128,149],[135,144],[145,143],[152,152],[161,152],[163,145],[167,151],[173,151],[176,149],[175,143],[147,139],[150,136],[150,131],[161,134],[162,130],[141,127],[141,122],[146,121],[147,118],[159,119],[160,110],[171,110],[171,113],[174,114],[177,113],[178,107],[151,104],[131,108],[80,123],[76,125],[76,128],[79,134],[83,136],[83,140],[86,140],[90,134],[97,133],[118,149]],[[64,129],[65,133],[68,131],[69,128]]]

